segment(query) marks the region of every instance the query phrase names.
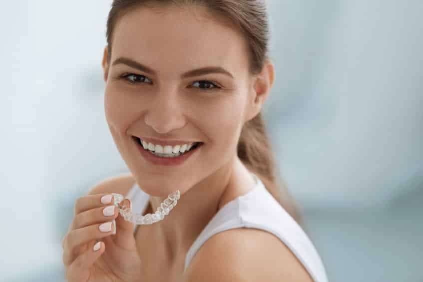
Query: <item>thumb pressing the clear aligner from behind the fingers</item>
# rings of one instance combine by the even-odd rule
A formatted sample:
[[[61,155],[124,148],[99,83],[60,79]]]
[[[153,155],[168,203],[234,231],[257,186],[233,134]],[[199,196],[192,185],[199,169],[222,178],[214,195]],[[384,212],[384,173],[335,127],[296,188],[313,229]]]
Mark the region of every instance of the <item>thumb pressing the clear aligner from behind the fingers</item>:
[[[123,199],[120,205],[132,208],[132,203],[129,199]],[[115,244],[127,250],[133,250],[136,248],[133,230],[134,224],[130,221],[126,221],[119,213],[115,219]]]

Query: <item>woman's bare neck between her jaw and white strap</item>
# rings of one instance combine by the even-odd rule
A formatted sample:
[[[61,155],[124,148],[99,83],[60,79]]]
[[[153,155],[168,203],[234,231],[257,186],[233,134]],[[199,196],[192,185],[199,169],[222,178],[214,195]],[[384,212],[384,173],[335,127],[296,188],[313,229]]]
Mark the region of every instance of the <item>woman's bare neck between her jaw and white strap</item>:
[[[150,226],[154,240],[169,262],[186,254],[189,247],[213,216],[226,203],[245,194],[254,185],[254,178],[238,156],[207,178],[191,187],[178,200],[164,220]],[[150,207],[155,211],[162,198],[150,196]],[[182,256],[183,258],[185,256]]]

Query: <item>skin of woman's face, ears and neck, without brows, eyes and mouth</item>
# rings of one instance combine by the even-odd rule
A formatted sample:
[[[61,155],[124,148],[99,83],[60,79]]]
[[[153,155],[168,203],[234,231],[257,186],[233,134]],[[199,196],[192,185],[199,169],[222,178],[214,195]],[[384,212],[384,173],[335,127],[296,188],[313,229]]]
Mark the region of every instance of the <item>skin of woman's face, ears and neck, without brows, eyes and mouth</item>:
[[[137,233],[136,241],[162,242],[154,244],[155,256],[168,265],[180,264],[216,212],[254,186],[236,148],[244,123],[260,112],[269,94],[274,67],[268,61],[260,74],[251,75],[243,34],[203,7],[133,9],[118,20],[111,46],[110,64],[107,48],[102,60],[104,107],[116,147],[150,195],[147,212],[156,211],[171,192],[179,189],[181,195],[165,220],[141,227],[143,235]],[[119,57],[156,73],[113,65]],[[233,78],[221,73],[181,78],[206,66],[222,67]],[[118,78],[122,74],[135,76]],[[131,84],[131,79],[139,82]],[[206,89],[213,85],[202,80],[222,88]],[[140,155],[132,135],[204,145],[182,165],[155,166]]]

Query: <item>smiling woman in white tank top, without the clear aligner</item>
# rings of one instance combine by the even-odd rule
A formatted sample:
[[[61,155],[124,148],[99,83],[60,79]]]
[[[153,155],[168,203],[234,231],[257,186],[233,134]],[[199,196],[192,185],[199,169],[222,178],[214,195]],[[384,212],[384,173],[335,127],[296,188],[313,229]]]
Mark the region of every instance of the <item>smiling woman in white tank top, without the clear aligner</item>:
[[[274,82],[263,1],[114,0],[106,35],[105,115],[131,173],[77,199],[68,281],[326,282],[278,195],[260,112]],[[146,215],[176,190],[149,225],[110,205],[119,193]]]

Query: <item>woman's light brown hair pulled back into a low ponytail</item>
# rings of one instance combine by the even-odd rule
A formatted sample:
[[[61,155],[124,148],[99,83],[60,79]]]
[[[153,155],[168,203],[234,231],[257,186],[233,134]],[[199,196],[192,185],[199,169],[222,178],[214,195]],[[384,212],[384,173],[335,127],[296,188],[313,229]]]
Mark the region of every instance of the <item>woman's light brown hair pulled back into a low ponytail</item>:
[[[113,0],[106,30],[109,64],[113,29],[118,19],[134,7],[149,6],[150,4],[153,6],[195,4],[207,7],[211,14],[224,16],[246,36],[251,74],[260,73],[266,61],[269,60],[270,32],[264,0]],[[297,223],[303,225],[299,208],[278,174],[261,112],[244,124],[238,141],[237,153],[243,164],[263,181],[266,189],[276,201]]]

